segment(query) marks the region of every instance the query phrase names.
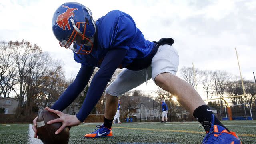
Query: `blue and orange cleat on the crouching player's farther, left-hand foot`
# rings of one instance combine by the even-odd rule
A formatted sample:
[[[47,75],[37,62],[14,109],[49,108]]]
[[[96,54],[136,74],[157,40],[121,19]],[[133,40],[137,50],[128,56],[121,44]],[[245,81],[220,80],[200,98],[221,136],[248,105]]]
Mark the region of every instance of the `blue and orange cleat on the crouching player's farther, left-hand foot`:
[[[90,134],[86,134],[85,138],[98,138],[98,137],[104,137],[104,136],[113,136],[112,130],[105,127],[103,124],[98,125],[95,128],[94,132],[91,132]]]

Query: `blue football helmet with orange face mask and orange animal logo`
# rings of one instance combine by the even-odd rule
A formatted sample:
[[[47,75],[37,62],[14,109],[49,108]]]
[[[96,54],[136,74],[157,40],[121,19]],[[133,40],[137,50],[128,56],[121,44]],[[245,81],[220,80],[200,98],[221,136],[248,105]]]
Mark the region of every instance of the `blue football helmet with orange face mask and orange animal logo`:
[[[92,52],[96,26],[92,12],[86,6],[76,2],[62,4],[54,12],[52,31],[60,46],[69,48],[76,54]]]

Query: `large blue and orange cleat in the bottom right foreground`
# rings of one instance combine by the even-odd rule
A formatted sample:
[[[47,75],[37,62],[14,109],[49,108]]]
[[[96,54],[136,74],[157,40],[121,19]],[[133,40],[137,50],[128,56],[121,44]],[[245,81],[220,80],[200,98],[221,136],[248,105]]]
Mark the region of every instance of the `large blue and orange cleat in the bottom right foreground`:
[[[214,124],[214,114],[212,114],[212,127],[205,136],[202,144],[242,144],[235,132],[228,132],[225,128]]]

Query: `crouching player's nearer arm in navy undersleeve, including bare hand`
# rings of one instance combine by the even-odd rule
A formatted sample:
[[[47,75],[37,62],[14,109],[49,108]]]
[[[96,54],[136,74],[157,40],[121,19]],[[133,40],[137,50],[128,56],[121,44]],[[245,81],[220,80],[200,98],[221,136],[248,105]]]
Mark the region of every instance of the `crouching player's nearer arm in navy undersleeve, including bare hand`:
[[[60,116],[60,118],[51,120],[47,122],[47,124],[62,122],[62,126],[55,132],[55,134],[59,134],[67,126],[77,126],[85,120],[85,118],[91,112],[92,108],[94,108],[94,106],[102,96],[106,85],[108,84],[118,65],[124,59],[126,52],[127,50],[120,48],[110,50],[106,54],[100,66],[100,70],[98,70],[98,72],[92,79],[89,90],[86,94],[86,98],[78,114],[73,116],[69,114],[64,114],[63,112],[60,112],[58,110],[48,109],[50,112],[54,112],[55,114]]]

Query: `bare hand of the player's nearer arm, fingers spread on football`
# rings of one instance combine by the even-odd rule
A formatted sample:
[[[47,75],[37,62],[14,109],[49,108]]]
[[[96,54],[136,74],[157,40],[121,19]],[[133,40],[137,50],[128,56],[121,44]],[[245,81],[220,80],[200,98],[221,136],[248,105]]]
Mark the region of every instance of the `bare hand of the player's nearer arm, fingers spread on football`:
[[[57,114],[60,118],[51,120],[51,121],[47,122],[47,124],[62,122],[62,126],[55,132],[55,134],[59,134],[67,126],[78,126],[79,124],[81,124],[80,120],[78,120],[76,118],[76,115],[64,114],[63,112],[60,112],[60,111],[54,110],[54,109],[50,109],[50,108],[48,109],[48,111]]]

